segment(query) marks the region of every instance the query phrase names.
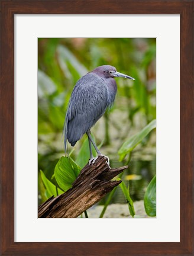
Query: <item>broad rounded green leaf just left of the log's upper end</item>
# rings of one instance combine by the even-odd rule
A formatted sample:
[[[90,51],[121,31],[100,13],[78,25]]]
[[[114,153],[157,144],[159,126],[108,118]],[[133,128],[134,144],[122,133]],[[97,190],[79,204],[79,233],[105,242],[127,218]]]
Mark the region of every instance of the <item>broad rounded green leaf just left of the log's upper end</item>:
[[[72,187],[73,181],[76,180],[81,168],[70,156],[62,156],[54,168],[54,177],[57,184],[64,191]]]

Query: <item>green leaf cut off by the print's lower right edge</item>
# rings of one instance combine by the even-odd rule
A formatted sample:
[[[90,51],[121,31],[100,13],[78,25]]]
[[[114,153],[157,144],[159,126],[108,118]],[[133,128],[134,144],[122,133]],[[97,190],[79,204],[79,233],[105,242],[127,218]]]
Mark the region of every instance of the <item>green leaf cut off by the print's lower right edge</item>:
[[[145,191],[144,207],[148,216],[156,216],[156,175],[150,181]]]

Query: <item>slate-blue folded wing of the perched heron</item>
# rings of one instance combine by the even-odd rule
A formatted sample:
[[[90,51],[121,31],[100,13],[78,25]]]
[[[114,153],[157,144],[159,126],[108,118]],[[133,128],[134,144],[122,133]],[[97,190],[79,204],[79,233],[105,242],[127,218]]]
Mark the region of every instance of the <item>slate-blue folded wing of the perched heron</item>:
[[[105,113],[107,91],[103,79],[88,73],[73,89],[66,114],[66,139],[72,146]]]

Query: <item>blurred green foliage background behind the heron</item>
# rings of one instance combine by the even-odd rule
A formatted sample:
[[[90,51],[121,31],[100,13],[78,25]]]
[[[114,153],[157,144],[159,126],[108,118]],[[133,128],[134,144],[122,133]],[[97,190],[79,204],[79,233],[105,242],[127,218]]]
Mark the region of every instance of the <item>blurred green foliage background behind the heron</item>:
[[[81,76],[101,65],[115,66],[117,71],[135,78],[115,79],[115,104],[92,129],[96,143],[102,146],[101,152],[111,158],[111,167],[122,165],[118,162],[118,150],[127,138],[156,119],[156,39],[38,39],[38,203],[48,196],[43,179],[51,181],[56,191],[59,189],[60,178],[53,174],[64,154],[62,131],[72,89]],[[125,181],[125,185],[130,184],[133,200],[143,199],[144,188],[156,174],[156,168],[144,173],[148,162],[156,163],[156,131],[140,143],[130,155],[127,174],[141,175],[142,179]],[[86,136],[74,148],[69,146],[71,150],[72,159],[83,167],[87,154],[89,159]],[[40,170],[44,173],[40,174]],[[114,197],[120,198],[119,191]]]

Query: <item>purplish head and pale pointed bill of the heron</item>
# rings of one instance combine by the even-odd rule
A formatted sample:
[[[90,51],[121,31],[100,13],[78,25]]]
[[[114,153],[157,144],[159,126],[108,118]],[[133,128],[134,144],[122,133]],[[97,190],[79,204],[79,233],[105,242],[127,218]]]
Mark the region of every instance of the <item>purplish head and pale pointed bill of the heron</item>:
[[[109,66],[109,65],[99,66],[98,68],[95,68],[92,72],[105,78],[123,77],[123,78],[135,80],[131,76],[125,75],[124,73],[117,72],[117,69],[114,66]]]

